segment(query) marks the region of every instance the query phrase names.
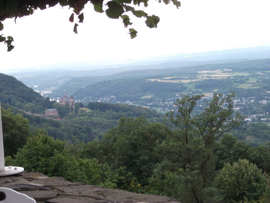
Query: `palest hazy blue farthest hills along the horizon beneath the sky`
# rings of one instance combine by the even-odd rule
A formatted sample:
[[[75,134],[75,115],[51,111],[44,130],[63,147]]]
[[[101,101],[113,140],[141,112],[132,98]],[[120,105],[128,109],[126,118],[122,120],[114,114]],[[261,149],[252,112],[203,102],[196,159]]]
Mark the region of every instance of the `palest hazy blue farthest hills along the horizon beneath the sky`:
[[[170,69],[191,66],[207,66],[207,64],[225,64],[237,61],[247,61],[249,59],[270,58],[270,47],[251,47],[230,50],[216,50],[199,53],[179,53],[171,56],[149,57],[139,61],[124,61],[124,63],[115,63],[115,61],[83,61],[69,62],[63,64],[52,64],[43,69],[32,68],[31,70],[17,70],[13,75],[27,86],[34,90],[60,90],[57,96],[66,92],[73,93],[74,89],[92,84],[92,81],[102,81],[106,79],[120,79],[126,77],[143,77],[141,71],[147,70],[148,75],[152,75],[149,69]],[[185,68],[184,70],[188,70]],[[127,71],[133,71],[129,72]],[[163,70],[164,72],[165,70]],[[122,75],[126,72],[125,75]],[[156,74],[158,75],[158,74]],[[112,76],[114,78],[112,78]],[[78,82],[78,78],[84,77],[84,82]],[[89,83],[87,78],[89,77]],[[97,78],[99,77],[99,78]],[[116,78],[115,78],[116,77]],[[72,89],[68,85],[72,80]],[[66,84],[67,83],[67,84]],[[61,93],[59,95],[59,93]],[[56,96],[53,94],[53,96]]]

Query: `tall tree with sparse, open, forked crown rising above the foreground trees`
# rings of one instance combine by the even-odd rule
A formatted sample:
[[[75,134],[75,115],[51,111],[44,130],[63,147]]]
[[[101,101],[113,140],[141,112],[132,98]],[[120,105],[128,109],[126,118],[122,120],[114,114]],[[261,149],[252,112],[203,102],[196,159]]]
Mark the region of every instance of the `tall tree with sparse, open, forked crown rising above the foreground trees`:
[[[179,180],[177,184],[170,184],[170,191],[177,192],[173,196],[178,197],[179,201],[202,203],[207,191],[212,193],[209,189],[215,172],[212,147],[219,137],[239,125],[243,119],[238,113],[233,114],[233,97],[234,92],[225,97],[214,94],[203,113],[196,115],[196,102],[203,95],[186,95],[175,102],[178,110],[167,114],[168,120],[165,123],[168,136],[158,146],[166,155],[164,161],[157,166],[155,174],[170,173],[174,177],[171,180]],[[155,177],[155,174],[150,180],[150,190],[167,195],[161,188],[156,189],[157,184],[164,184],[166,180],[162,180],[163,175]]]

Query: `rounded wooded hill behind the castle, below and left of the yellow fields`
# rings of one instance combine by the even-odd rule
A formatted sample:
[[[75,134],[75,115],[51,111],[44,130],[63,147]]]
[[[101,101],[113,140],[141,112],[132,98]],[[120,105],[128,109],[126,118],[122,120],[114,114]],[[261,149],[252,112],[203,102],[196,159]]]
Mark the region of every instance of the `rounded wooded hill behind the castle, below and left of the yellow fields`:
[[[117,79],[106,80],[95,83],[85,88],[81,88],[74,94],[76,99],[97,101],[97,98],[105,98],[110,96],[117,96],[117,101],[138,101],[145,95],[154,94],[157,97],[170,97],[171,93],[183,92],[186,89],[183,84],[177,83],[161,83],[157,81],[148,81],[142,78],[136,79]],[[114,97],[110,98],[111,100]]]

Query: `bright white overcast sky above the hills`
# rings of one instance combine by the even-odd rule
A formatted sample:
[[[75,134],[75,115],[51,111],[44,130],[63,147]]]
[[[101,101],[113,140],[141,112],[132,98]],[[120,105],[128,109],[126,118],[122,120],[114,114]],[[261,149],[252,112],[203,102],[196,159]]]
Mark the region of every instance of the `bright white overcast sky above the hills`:
[[[84,22],[69,22],[68,7],[57,5],[36,10],[33,15],[3,21],[0,35],[12,36],[15,48],[7,52],[0,43],[0,72],[42,68],[59,63],[83,61],[102,64],[107,60],[125,63],[178,53],[195,53],[257,46],[270,46],[270,1],[268,0],[182,0],[177,9],[150,0],[140,6],[160,17],[157,28],[148,28],[144,18],[130,14],[138,36],[130,39],[120,19],[97,13],[88,3]],[[75,63],[76,64],[76,63]]]

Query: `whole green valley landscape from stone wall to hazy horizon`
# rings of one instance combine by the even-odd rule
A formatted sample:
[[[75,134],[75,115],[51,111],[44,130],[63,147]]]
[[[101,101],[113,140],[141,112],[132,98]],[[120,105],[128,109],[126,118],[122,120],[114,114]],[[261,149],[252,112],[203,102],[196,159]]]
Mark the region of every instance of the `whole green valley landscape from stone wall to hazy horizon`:
[[[179,201],[205,180],[208,202],[224,202],[224,173],[248,170],[256,180],[241,185],[256,183],[264,202],[269,67],[265,58],[0,74],[5,163]]]

